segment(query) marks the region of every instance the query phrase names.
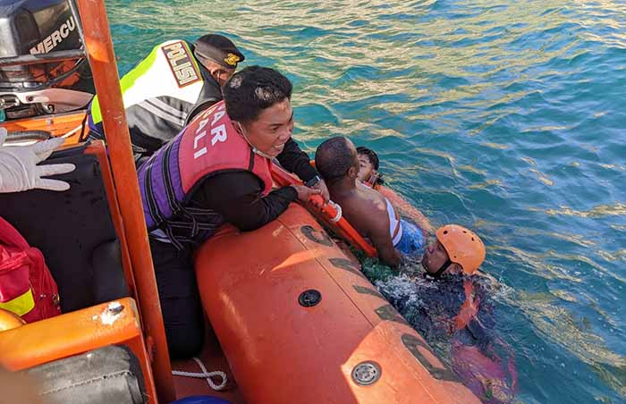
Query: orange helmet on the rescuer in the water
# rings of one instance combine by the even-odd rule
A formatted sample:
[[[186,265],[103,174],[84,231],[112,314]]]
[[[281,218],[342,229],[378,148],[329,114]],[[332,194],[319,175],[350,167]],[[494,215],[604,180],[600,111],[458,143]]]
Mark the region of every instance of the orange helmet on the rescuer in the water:
[[[446,224],[436,231],[450,261],[461,265],[465,274],[474,274],[485,261],[485,244],[474,233],[458,224]]]

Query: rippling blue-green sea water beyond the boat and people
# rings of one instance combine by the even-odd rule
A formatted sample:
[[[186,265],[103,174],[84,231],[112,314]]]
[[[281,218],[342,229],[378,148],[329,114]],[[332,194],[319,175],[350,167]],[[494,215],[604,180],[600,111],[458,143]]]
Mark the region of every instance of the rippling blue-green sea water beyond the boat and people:
[[[121,72],[229,35],[292,79],[295,138],[374,147],[436,225],[485,240],[522,403],[626,402],[626,5],[107,1]]]

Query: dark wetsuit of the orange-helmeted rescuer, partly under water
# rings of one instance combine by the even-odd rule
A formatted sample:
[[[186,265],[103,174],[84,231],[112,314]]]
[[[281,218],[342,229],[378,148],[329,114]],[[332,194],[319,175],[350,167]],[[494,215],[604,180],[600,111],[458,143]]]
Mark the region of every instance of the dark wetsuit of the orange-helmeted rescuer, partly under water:
[[[478,313],[458,326],[454,319],[466,301],[466,280],[471,282],[471,299],[478,306]],[[488,404],[514,401],[514,353],[495,333],[495,285],[488,278],[448,274],[435,281],[424,275],[397,276],[377,285],[480,400]]]

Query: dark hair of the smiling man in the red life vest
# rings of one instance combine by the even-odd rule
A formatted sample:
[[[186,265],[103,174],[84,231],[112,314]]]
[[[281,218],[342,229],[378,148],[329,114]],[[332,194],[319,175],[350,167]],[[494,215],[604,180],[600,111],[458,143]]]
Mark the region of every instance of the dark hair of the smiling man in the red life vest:
[[[268,67],[246,67],[224,86],[226,114],[237,122],[254,121],[262,110],[285,98],[292,99],[292,82]]]

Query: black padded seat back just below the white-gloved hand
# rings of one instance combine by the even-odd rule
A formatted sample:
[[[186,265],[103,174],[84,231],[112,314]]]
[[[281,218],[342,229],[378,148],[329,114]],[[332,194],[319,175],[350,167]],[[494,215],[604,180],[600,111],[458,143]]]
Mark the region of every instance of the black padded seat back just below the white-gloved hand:
[[[43,163],[76,165],[72,173],[55,177],[69,182],[69,190],[0,194],[0,216],[46,258],[63,313],[131,296],[106,193],[108,166],[101,170],[106,153],[104,146],[96,148],[100,156],[82,145],[55,152]]]

